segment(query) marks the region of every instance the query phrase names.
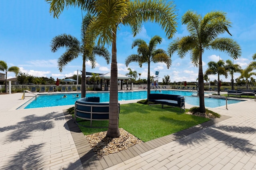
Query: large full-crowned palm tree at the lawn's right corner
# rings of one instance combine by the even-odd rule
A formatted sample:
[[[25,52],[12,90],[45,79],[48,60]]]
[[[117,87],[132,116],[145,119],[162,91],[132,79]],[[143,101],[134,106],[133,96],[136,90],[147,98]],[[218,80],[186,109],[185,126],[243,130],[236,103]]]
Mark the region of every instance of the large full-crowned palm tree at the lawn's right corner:
[[[182,24],[187,25],[190,35],[174,40],[168,47],[168,53],[172,55],[174,52],[178,51],[178,56],[184,58],[186,53],[191,52],[190,58],[192,63],[199,67],[198,85],[200,112],[205,113],[204,76],[202,68],[202,54],[204,50],[214,49],[225,51],[231,58],[237,59],[241,56],[241,48],[236,41],[230,38],[218,37],[218,35],[225,31],[229,33],[228,27],[230,27],[231,22],[226,19],[226,13],[224,12],[209,12],[202,18],[200,14],[189,10],[182,16]]]

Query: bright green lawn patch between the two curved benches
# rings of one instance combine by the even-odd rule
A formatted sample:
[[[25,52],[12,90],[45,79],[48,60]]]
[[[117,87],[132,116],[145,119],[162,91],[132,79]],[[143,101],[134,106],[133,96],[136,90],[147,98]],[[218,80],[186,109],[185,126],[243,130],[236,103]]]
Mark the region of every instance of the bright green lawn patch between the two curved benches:
[[[187,111],[187,110],[186,110]],[[78,119],[79,120],[79,119]],[[180,112],[179,108],[160,105],[122,104],[120,105],[119,128],[123,128],[142,141],[150,141],[159,137],[198,125],[210,119]],[[80,124],[90,125],[89,121]],[[108,126],[108,121],[93,121],[93,126]],[[107,131],[79,126],[84,135]]]

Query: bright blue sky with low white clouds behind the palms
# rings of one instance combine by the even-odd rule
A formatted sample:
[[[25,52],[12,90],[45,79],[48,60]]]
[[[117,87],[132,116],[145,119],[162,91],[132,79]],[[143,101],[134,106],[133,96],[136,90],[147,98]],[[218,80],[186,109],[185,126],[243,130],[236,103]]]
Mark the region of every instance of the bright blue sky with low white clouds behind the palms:
[[[237,41],[242,48],[242,56],[234,61],[245,68],[252,55],[256,53],[256,1],[255,0],[174,0],[176,13],[178,14],[178,27],[174,37],[188,35],[186,25],[181,25],[181,17],[188,10],[193,10],[204,16],[206,13],[220,10],[227,13],[227,18],[232,22],[229,29],[232,36],[227,33],[220,37],[230,37]],[[83,13],[85,14],[85,13]],[[82,21],[81,10],[78,8],[68,8],[60,15],[53,18],[49,13],[49,4],[44,0],[8,0],[0,1],[0,60],[6,61],[8,67],[18,66],[21,72],[26,72],[33,76],[52,76],[53,78],[65,78],[82,70],[82,58],[78,57],[70,62],[63,69],[58,70],[57,60],[65,49],[60,49],[56,53],[50,50],[50,42],[56,35],[67,33],[80,40],[80,27]],[[164,31],[158,24],[144,23],[142,31],[133,37],[129,27],[121,26],[117,33],[117,61],[118,72],[128,73],[127,68],[142,73],[140,78],[147,77],[147,65],[142,68],[138,63],[130,63],[125,66],[124,60],[130,54],[136,54],[137,49],[131,49],[132,41],[140,38],[149,42],[154,35],[160,35],[163,41],[157,48],[167,50],[173,39],[167,39]],[[111,51],[111,48],[109,48]],[[209,61],[223,59],[232,60],[226,53],[220,51],[205,51],[203,54],[203,71],[207,69]],[[97,57],[96,68],[92,69],[90,63],[86,64],[87,72],[107,73],[110,72],[110,64]],[[150,66],[151,75],[159,73],[159,82],[166,75],[170,75],[171,82],[196,81],[198,68],[190,63],[189,54],[184,59],[180,59],[175,53],[172,56],[172,66],[167,69],[166,64],[152,63]],[[15,75],[8,73],[8,78]],[[239,74],[235,74],[237,78]],[[217,75],[210,75],[210,80],[217,79]],[[139,78],[139,76],[138,76]],[[230,76],[223,81],[230,81]]]

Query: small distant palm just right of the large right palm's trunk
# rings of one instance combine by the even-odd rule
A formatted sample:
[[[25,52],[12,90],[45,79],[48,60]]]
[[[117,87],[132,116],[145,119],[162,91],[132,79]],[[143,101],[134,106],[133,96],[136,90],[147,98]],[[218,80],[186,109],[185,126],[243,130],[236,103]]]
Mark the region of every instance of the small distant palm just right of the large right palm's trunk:
[[[218,74],[218,95],[220,95],[220,75],[224,75],[225,78],[228,77],[228,71],[226,70],[225,62],[219,60],[218,62],[210,61],[208,63],[208,68],[204,73],[206,76],[210,74]]]

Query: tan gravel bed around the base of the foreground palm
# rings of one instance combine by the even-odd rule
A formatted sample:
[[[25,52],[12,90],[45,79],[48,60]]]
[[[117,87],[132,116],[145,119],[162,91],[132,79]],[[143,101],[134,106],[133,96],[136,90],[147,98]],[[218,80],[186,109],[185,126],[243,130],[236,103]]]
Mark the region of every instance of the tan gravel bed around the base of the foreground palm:
[[[119,131],[119,138],[106,137],[107,131],[86,135],[85,137],[98,158],[143,143],[143,141],[124,129],[120,128]]]

